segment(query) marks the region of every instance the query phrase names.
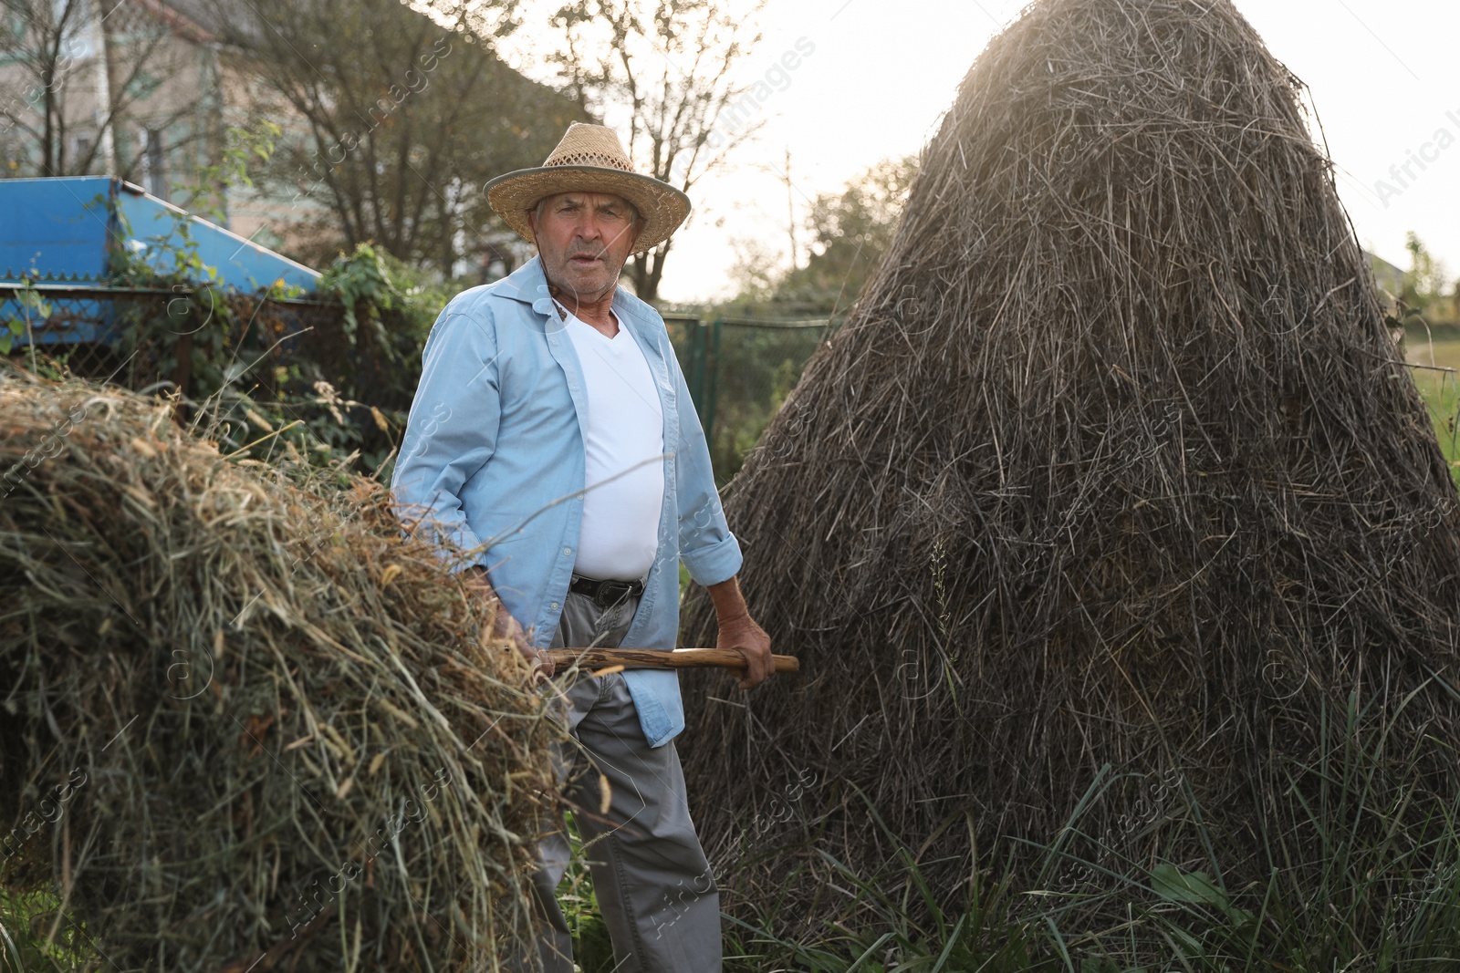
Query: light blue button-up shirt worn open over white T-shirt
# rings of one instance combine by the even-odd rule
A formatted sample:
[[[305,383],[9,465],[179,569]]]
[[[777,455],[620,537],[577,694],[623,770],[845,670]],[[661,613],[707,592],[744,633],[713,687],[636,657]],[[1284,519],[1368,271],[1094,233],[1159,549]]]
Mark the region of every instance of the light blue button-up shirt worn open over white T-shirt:
[[[658,551],[623,645],[673,649],[679,562],[701,585],[740,570],[699,417],[664,319],[619,290],[613,312],[648,362],[664,411],[664,505]],[[542,264],[472,287],[441,311],[422,353],[420,385],[391,489],[419,531],[485,566],[507,610],[539,648],[552,642],[583,524],[587,389]],[[623,674],[651,747],[685,728],[679,674]]]

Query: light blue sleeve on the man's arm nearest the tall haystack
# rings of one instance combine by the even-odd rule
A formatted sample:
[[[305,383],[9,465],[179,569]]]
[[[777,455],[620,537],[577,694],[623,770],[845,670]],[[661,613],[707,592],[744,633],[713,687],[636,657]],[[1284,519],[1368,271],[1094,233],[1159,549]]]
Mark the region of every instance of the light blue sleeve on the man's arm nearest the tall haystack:
[[[679,448],[675,451],[675,492],[679,500],[679,559],[699,585],[717,585],[740,572],[740,543],[730,532],[710,465],[710,443],[695,414],[689,388],[673,354],[679,384]]]

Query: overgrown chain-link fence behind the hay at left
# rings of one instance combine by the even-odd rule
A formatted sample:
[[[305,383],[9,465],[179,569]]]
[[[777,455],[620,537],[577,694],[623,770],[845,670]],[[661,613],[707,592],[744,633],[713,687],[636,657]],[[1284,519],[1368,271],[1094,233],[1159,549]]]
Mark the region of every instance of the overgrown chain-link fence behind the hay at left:
[[[353,451],[371,471],[397,443],[419,378],[418,328],[385,314],[361,302],[350,325],[339,301],[317,296],[9,274],[0,350],[41,373],[177,395],[177,417],[206,417],[220,446],[302,426],[289,438],[310,455]]]

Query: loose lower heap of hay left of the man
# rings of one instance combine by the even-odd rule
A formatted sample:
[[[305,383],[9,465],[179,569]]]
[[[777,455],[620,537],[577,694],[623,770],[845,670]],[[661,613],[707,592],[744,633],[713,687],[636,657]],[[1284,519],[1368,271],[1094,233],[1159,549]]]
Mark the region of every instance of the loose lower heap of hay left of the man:
[[[0,376],[0,881],[54,890],[34,934],[127,972],[495,969],[553,731],[384,490],[79,382]]]

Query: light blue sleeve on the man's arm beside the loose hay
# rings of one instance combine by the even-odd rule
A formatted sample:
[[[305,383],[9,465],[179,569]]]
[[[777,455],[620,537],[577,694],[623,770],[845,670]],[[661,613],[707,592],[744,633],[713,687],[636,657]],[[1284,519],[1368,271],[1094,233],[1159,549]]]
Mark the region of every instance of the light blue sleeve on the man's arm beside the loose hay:
[[[492,458],[502,406],[498,344],[491,311],[479,298],[451,301],[426,338],[420,384],[410,404],[406,438],[391,478],[404,524],[442,546],[474,556],[453,567],[477,563],[479,538],[461,505],[464,484]]]

